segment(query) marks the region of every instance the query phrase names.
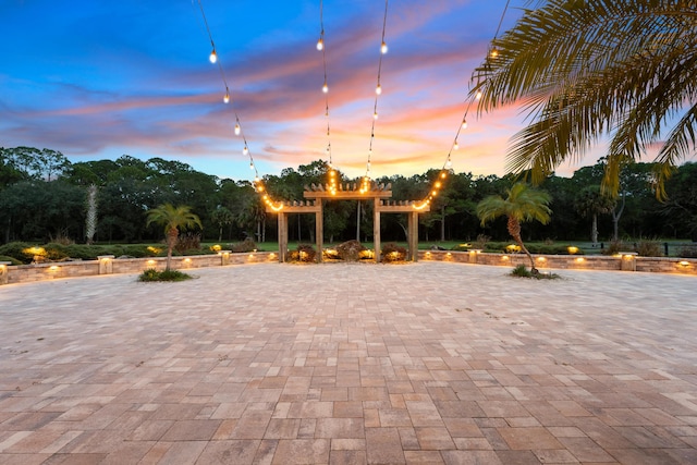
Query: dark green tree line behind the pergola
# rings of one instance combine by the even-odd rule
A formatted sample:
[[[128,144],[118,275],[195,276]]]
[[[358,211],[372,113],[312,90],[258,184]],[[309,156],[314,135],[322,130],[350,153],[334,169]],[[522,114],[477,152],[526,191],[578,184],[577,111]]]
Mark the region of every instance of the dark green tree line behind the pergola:
[[[305,185],[326,182],[322,160],[286,168],[266,175],[274,199],[302,200]],[[549,175],[539,185],[551,196],[547,224],[530,223],[526,241],[611,241],[661,237],[697,240],[697,163],[676,168],[665,183],[668,199],[659,201],[653,166],[628,163],[620,173],[615,198],[602,194],[604,160],[584,167],[571,178]],[[339,172],[341,182],[347,179]],[[377,179],[391,184],[395,200],[420,200],[439,175],[430,170],[413,176]],[[480,234],[508,237],[505,219],[482,227],[476,206],[500,195],[516,179],[512,175],[474,175],[451,172],[445,186],[420,216],[419,240],[469,241]],[[68,237],[75,242],[155,242],[158,228],[147,224],[149,210],[163,205],[186,205],[201,221],[203,240],[257,242],[277,240],[277,218],[267,213],[248,181],[220,179],[189,164],[161,158],[140,160],[124,155],[117,160],[71,162],[60,151],[32,147],[0,148],[0,243],[49,242]],[[327,201],[325,241],[372,240],[370,201]],[[404,241],[406,216],[384,215],[383,241]],[[291,215],[289,240],[314,242],[314,215]]]

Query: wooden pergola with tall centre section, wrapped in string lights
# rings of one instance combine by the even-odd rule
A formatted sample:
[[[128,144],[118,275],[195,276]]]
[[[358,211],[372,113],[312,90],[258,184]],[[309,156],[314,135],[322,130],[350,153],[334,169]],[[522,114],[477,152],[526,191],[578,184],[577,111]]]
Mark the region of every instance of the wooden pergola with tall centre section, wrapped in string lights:
[[[394,203],[391,184],[371,183],[370,188],[360,189],[356,183],[339,184],[337,189],[330,189],[321,184],[305,186],[303,193],[305,201],[282,203],[280,206],[267,206],[268,213],[278,213],[279,219],[279,261],[284,262],[288,254],[288,215],[315,213],[315,240],[318,260],[322,260],[325,217],[323,200],[367,200],[372,199],[372,242],[375,246],[375,261],[380,261],[380,216],[381,213],[407,213],[408,259],[416,261],[418,254],[418,215],[430,211],[429,206],[416,208],[415,201]]]

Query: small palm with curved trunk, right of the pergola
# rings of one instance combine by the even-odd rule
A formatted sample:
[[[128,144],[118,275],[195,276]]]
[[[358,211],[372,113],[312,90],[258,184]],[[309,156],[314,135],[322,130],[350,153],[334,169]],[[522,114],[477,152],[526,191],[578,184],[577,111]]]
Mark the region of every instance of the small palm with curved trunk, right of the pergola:
[[[508,230],[511,237],[530,259],[530,271],[537,274],[535,260],[523,244],[521,237],[521,223],[524,221],[537,220],[547,224],[552,212],[548,205],[551,197],[543,191],[528,187],[525,183],[515,183],[513,187],[506,189],[508,197],[504,199],[500,195],[491,195],[477,204],[477,216],[484,227],[488,221],[505,216]]]

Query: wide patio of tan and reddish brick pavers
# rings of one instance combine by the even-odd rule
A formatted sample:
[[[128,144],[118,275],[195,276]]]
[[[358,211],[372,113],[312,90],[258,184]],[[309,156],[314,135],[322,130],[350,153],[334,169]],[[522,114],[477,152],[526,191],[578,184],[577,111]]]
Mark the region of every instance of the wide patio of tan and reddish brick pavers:
[[[697,464],[697,279],[261,264],[0,287],[0,464]]]

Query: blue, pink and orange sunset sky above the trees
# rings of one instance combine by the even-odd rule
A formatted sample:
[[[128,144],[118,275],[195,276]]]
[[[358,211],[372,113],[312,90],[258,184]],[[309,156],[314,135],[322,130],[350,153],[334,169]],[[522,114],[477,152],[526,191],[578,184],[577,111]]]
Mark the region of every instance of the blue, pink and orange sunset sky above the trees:
[[[0,146],[51,148],[73,162],[161,157],[246,180],[253,173],[233,132],[237,114],[260,175],[327,160],[329,142],[337,168],[364,174],[384,2],[323,2],[328,138],[316,49],[320,2],[201,1],[223,73],[208,60],[198,0],[0,0]],[[523,4],[511,1],[502,32]],[[389,3],[374,178],[443,167],[472,72],[504,7],[504,0]],[[509,138],[524,117],[510,108],[477,118],[473,107],[453,169],[504,174]]]

